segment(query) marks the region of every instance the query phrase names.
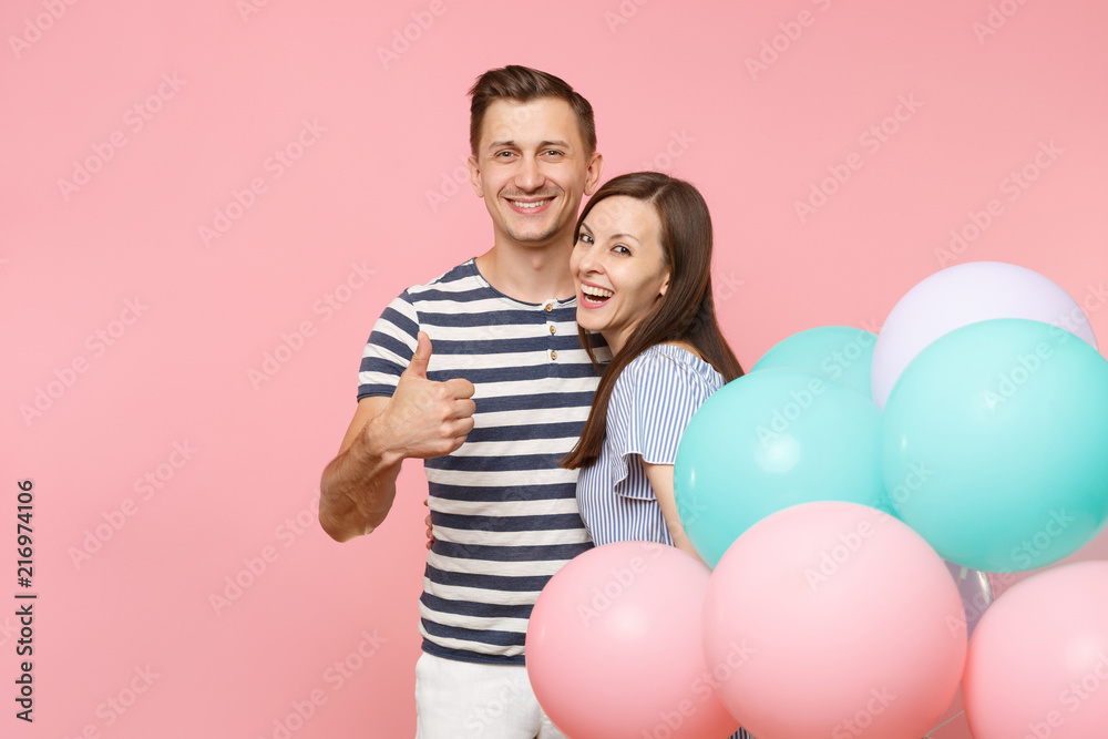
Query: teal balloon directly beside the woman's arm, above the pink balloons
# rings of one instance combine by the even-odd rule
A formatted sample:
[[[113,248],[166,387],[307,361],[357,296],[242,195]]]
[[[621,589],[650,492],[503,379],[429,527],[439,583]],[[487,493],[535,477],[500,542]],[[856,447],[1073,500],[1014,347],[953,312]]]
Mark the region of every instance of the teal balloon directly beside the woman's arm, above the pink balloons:
[[[891,513],[881,481],[881,413],[865,396],[817,372],[759,370],[697,410],[674,462],[681,525],[716,563],[771,513],[848,501]]]

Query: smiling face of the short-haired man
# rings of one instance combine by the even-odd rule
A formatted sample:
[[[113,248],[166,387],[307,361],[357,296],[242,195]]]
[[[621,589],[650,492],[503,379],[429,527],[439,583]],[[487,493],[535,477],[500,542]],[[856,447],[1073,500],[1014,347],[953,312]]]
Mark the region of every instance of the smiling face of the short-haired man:
[[[582,195],[596,189],[603,158],[586,153],[564,100],[497,100],[485,111],[469,170],[497,242],[544,246],[573,239]]]

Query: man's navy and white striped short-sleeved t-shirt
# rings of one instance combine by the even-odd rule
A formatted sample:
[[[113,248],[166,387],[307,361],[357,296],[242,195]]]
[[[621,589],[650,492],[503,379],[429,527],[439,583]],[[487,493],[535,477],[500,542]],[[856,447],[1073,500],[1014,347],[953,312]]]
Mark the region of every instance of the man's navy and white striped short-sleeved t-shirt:
[[[423,650],[522,665],[527,618],[546,581],[592,547],[577,473],[558,461],[577,443],[599,378],[581,346],[575,298],[522,302],[472,259],[392,300],[373,326],[358,399],[391,397],[431,339],[428,379],[473,383],[474,428],[460,449],[424,460],[434,544],[420,598]],[[611,352],[597,336],[597,360]]]

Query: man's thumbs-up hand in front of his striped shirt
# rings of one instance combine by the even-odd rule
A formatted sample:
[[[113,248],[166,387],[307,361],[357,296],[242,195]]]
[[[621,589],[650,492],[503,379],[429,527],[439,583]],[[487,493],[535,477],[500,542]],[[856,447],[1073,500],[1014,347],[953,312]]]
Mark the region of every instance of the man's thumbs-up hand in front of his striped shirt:
[[[473,430],[473,383],[456,378],[427,379],[431,339],[419,332],[416,353],[400,376],[396,392],[378,417],[390,447],[404,458],[429,459],[451,453]]]

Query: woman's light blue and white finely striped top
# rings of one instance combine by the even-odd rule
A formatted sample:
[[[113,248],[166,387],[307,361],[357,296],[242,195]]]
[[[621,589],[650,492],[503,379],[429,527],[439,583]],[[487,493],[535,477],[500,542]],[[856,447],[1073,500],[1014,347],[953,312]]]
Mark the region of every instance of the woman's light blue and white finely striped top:
[[[627,540],[673,546],[643,462],[673,464],[685,427],[721,387],[711,365],[668,343],[649,347],[616,378],[601,455],[577,479],[581,517],[597,546]]]

